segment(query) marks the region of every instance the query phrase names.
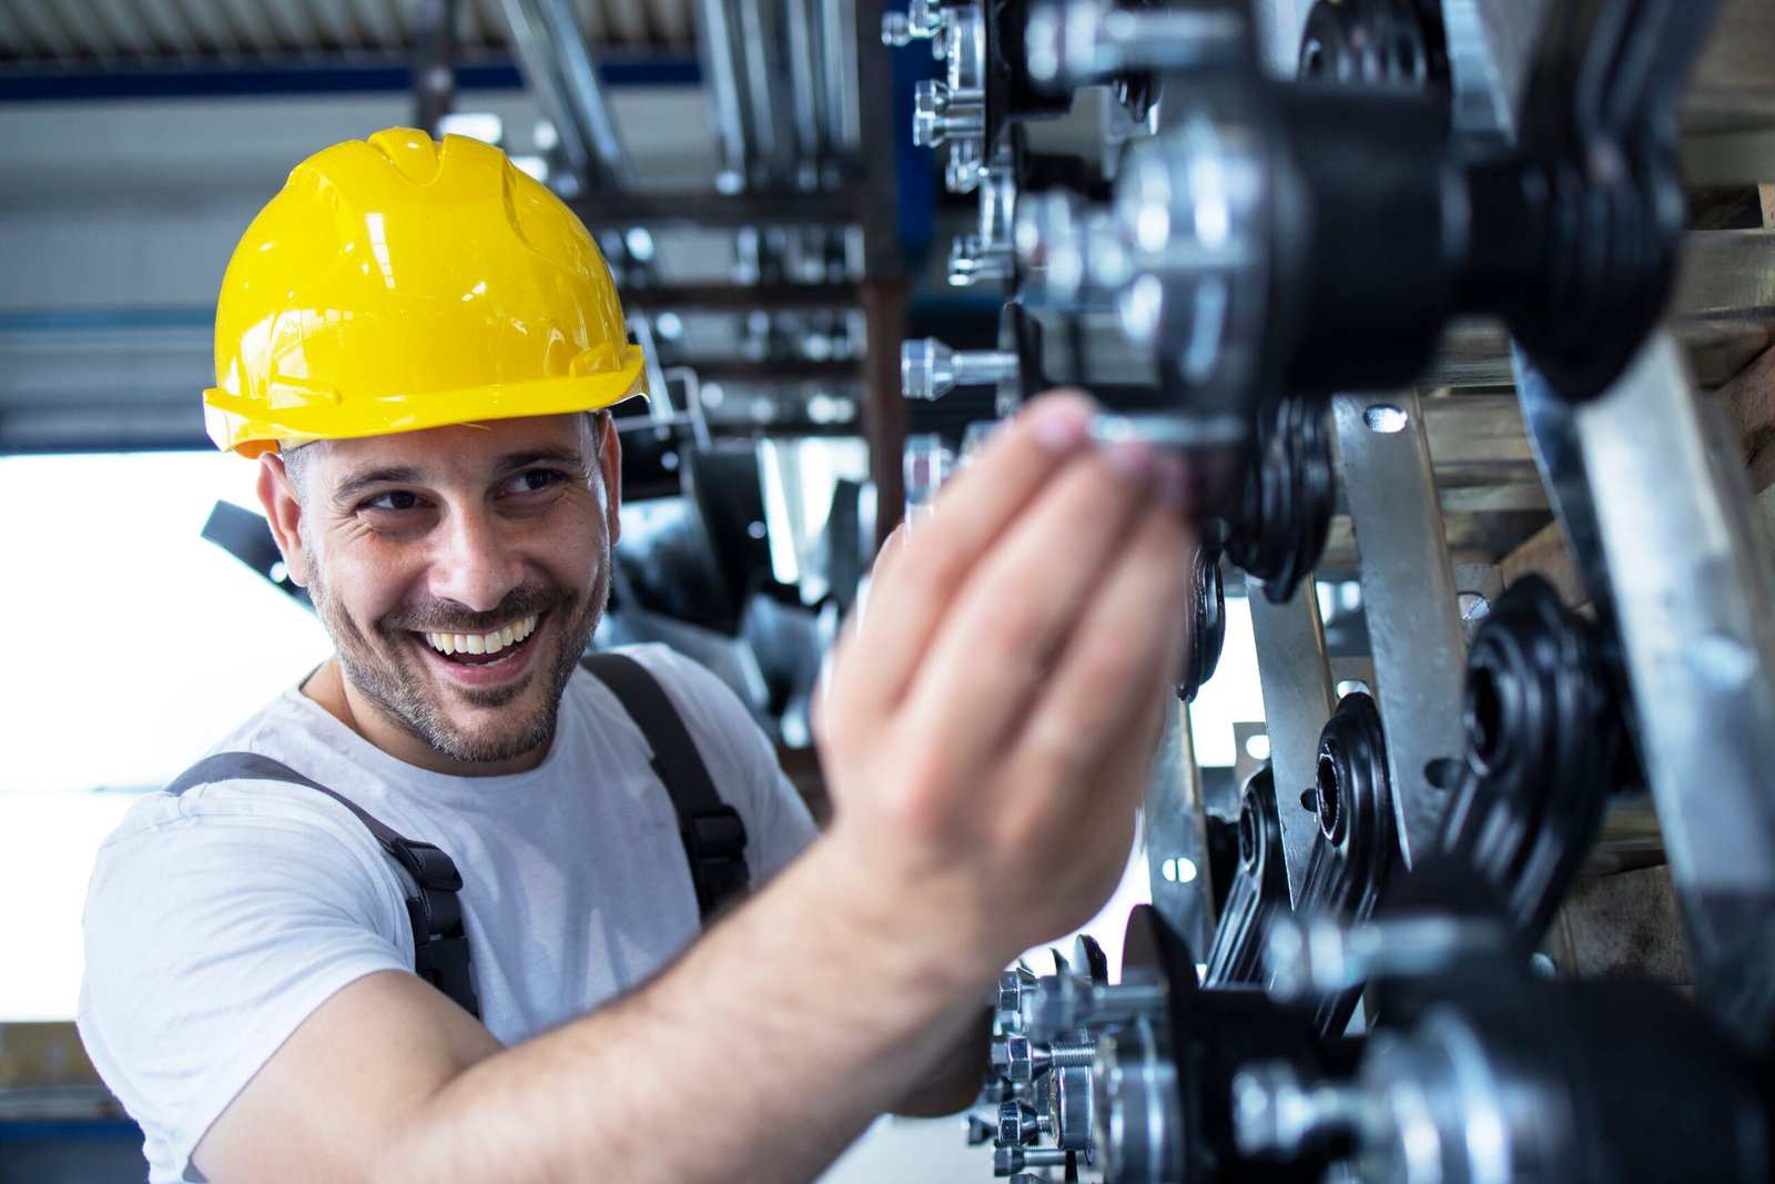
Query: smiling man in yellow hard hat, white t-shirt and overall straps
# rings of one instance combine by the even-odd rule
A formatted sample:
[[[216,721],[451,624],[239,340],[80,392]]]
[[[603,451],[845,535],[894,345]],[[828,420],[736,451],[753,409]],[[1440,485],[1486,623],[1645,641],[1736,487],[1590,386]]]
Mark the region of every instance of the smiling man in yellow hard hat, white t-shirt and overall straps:
[[[790,1180],[966,1104],[1021,950],[1113,889],[1179,669],[1175,462],[1051,398],[880,561],[816,719],[832,827],[706,675],[643,651],[769,879],[698,939],[671,806],[577,669],[639,385],[589,236],[495,149],[327,149],[248,229],[211,435],[335,655],[222,747],[462,870],[485,1022],[412,971],[405,888],[325,793],[137,806],[80,1024],[154,1180]],[[797,854],[799,852],[799,854]]]

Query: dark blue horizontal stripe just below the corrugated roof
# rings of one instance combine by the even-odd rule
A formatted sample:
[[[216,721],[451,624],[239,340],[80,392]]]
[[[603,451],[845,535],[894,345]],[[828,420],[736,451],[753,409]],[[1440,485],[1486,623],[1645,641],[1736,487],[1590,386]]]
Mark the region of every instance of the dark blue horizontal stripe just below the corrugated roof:
[[[627,59],[598,64],[609,87],[694,87],[703,69],[694,57]],[[217,94],[339,94],[412,91],[406,60],[367,64],[288,64],[179,69],[0,69],[0,103],[64,99],[149,99]],[[524,75],[509,60],[456,67],[458,91],[522,91]]]

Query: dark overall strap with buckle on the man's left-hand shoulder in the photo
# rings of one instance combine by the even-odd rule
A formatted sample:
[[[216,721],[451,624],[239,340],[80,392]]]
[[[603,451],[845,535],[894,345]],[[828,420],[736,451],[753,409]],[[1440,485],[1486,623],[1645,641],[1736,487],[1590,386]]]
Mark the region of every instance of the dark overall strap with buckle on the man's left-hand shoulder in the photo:
[[[167,793],[178,797],[199,785],[217,781],[284,781],[304,785],[334,799],[364,824],[389,856],[414,877],[419,895],[406,898],[406,916],[414,925],[414,969],[421,978],[454,999],[479,1019],[481,1001],[469,975],[469,935],[462,923],[462,873],[456,863],[431,843],[403,838],[351,799],[302,776],[289,765],[261,753],[215,753],[181,772]]]

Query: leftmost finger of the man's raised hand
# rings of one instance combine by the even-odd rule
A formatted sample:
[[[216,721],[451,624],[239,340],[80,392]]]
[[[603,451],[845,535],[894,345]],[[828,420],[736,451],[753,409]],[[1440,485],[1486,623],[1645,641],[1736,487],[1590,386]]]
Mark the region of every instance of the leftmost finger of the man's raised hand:
[[[902,699],[969,572],[1053,474],[1086,449],[1093,410],[1077,394],[1037,399],[943,488],[935,515],[911,536],[903,527],[895,533],[877,561],[870,604],[854,616],[840,653],[859,678],[834,694],[864,714]]]

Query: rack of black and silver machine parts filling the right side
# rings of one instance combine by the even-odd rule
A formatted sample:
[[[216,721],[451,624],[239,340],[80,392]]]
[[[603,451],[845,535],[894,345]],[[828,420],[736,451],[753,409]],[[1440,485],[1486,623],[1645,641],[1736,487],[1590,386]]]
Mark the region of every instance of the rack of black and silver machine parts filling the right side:
[[[1179,692],[1239,580],[1267,715],[1235,815],[1173,721],[1154,905],[1120,967],[1005,973],[973,1138],[1024,1180],[1771,1180],[1775,11],[1290,14],[886,20],[978,197],[950,279],[1006,296],[996,350],[907,343],[905,394],[1083,378],[1180,449]],[[1037,151],[1086,91],[1100,160]],[[1113,367],[1054,362],[1077,325]]]

